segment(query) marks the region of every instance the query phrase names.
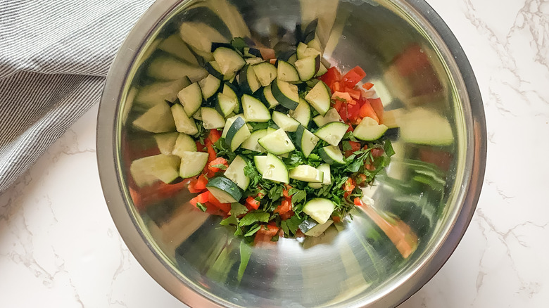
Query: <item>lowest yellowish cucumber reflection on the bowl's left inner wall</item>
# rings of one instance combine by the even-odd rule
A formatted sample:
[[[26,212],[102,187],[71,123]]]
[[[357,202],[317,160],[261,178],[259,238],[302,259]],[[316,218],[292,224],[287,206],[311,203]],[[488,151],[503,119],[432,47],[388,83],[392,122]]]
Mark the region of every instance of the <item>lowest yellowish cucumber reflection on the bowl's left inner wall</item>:
[[[155,181],[168,184],[179,177],[179,163],[181,160],[171,155],[154,155],[134,160],[130,166],[130,174],[137,186],[148,186]]]

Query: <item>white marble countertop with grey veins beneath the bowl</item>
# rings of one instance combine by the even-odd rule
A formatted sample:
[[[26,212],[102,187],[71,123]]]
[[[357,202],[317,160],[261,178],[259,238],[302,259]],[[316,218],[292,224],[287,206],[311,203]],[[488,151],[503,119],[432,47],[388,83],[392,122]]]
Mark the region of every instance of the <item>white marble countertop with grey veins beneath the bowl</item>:
[[[477,75],[488,163],[465,237],[401,307],[548,307],[549,1],[429,3]],[[96,167],[96,113],[0,195],[1,307],[186,307],[115,229]]]

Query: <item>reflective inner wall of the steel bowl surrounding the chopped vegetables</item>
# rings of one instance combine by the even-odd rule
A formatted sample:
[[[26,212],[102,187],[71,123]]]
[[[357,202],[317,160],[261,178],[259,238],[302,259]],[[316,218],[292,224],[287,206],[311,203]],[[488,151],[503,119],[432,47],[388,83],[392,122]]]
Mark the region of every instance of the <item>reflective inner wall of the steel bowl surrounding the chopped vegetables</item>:
[[[274,48],[294,42],[296,25],[315,19],[324,61],[343,72],[363,68],[393,122],[388,135],[396,155],[367,191],[375,201],[370,210],[353,213],[319,238],[280,238],[250,248],[219,225],[221,217],[194,209],[184,184],[165,189],[132,181],[131,162],[160,152],[154,134],[132,122],[173,96],[158,89],[186,75],[197,81],[187,51],[208,58],[203,46],[211,43],[210,29]],[[131,35],[146,39],[122,86],[115,164],[135,226],[184,288],[229,307],[386,307],[410,295],[411,288],[399,288],[448,237],[472,156],[467,91],[448,48],[422,15],[403,1],[182,1],[151,32]],[[184,46],[169,44],[181,37]]]

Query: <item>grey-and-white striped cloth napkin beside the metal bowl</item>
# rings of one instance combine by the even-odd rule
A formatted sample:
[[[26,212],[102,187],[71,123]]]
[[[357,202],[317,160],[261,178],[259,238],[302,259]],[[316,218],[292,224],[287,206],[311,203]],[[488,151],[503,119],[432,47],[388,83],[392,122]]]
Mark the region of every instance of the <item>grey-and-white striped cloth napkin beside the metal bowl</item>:
[[[116,51],[152,2],[0,1],[0,193],[99,102]]]

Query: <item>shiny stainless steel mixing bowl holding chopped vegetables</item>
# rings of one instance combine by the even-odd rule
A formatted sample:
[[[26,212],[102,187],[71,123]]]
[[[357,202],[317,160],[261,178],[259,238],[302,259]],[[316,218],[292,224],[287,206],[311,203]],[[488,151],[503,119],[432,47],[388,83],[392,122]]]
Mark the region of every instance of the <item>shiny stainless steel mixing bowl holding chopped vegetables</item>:
[[[157,50],[163,39],[190,21],[272,47],[314,18],[325,60],[343,71],[364,68],[400,127],[389,133],[397,154],[367,192],[373,207],[320,238],[248,248],[218,225],[220,217],[193,210],[186,189],[132,184],[129,163],[158,152],[152,134],[132,120],[158,101],[142,96],[158,75],[151,59],[165,52]],[[169,66],[162,70],[173,78],[187,75]],[[485,126],[472,68],[422,0],[162,0],[115,58],[99,110],[97,157],[125,243],[191,307],[393,307],[434,276],[465,233],[484,177]],[[394,231],[404,233],[400,240]]]

